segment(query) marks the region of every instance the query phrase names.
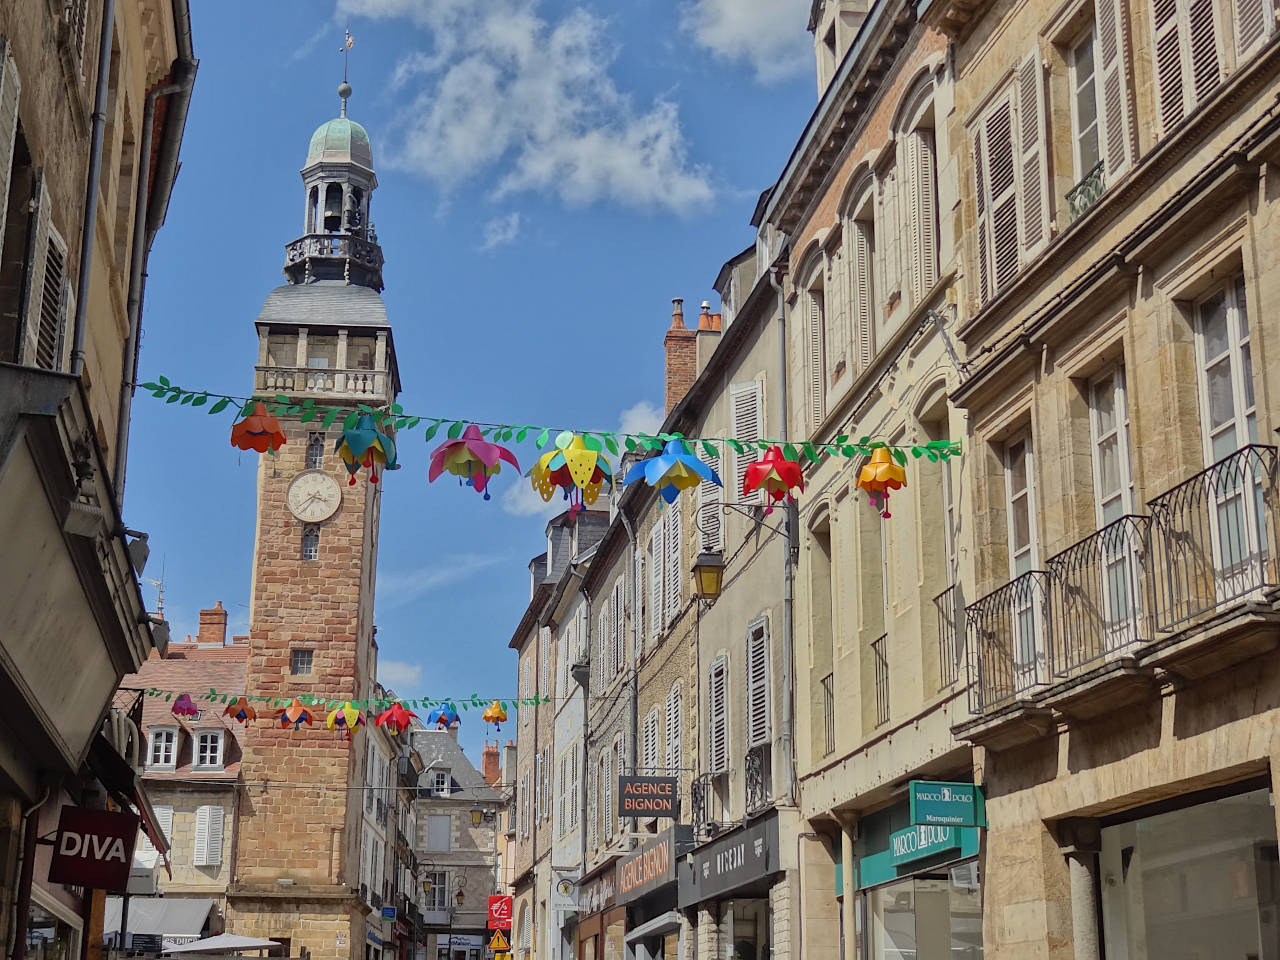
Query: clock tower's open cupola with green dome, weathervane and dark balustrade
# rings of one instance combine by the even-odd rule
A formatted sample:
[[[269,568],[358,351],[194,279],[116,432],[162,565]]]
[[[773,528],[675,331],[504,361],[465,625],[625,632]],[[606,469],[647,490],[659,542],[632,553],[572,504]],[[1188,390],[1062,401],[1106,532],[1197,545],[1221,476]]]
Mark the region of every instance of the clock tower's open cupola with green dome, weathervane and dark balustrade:
[[[311,134],[302,165],[302,236],[284,248],[284,275],[289,283],[343,280],[380,292],[383,251],[370,219],[374,151],[365,128],[347,116],[347,81],[338,97],[338,116]]]

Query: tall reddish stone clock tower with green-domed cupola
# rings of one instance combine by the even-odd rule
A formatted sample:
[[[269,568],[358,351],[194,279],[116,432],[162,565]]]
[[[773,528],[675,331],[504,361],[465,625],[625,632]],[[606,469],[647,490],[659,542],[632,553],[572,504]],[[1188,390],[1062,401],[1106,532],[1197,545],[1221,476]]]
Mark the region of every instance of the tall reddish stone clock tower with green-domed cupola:
[[[255,393],[379,407],[399,392],[370,221],[378,186],[369,134],[342,110],[311,137],[302,236],[287,283],[257,317]],[[355,485],[333,452],[339,420],[283,419],[288,442],[259,461],[250,621],[250,694],[362,699],[374,681],[372,608],[381,483]],[[269,710],[264,709],[264,713]],[[315,723],[261,716],[244,739],[227,929],[287,941],[316,960],[365,955],[360,823],[365,750]],[[268,786],[262,786],[266,783]],[[278,787],[270,786],[278,783]]]

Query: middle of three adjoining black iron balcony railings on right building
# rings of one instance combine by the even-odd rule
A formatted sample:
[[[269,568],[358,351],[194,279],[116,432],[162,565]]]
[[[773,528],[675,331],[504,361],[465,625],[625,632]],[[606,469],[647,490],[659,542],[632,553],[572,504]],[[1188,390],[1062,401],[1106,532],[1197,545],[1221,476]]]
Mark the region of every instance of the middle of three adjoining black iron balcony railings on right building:
[[[1048,561],[1055,676],[1073,676],[1151,639],[1149,524],[1149,517],[1120,517]]]

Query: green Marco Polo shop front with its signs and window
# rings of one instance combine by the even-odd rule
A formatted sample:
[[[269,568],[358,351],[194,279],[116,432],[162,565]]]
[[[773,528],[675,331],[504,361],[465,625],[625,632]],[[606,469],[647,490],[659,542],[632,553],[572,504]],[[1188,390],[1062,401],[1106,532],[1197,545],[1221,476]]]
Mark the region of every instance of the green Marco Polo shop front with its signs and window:
[[[983,822],[980,788],[925,781],[913,781],[902,803],[859,820],[850,886],[860,956],[982,957],[980,828],[973,824]],[[837,868],[836,888],[846,891],[841,874]]]

